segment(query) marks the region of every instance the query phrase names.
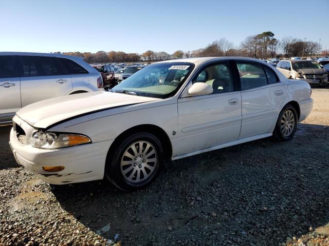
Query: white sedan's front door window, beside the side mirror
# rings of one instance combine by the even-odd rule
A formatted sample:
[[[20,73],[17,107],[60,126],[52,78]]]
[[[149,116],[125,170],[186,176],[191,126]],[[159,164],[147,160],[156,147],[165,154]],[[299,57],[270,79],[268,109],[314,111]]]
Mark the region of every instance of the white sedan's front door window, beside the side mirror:
[[[231,70],[226,63],[205,68],[193,80],[193,84],[197,82],[210,85],[213,88],[213,94],[234,91]]]

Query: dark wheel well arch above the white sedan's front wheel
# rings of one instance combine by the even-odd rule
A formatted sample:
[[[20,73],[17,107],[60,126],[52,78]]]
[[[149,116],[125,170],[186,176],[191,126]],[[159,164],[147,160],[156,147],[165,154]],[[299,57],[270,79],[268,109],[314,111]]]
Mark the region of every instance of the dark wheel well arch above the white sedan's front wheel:
[[[118,147],[120,142],[123,141],[123,139],[125,139],[130,134],[137,133],[137,132],[148,132],[148,133],[151,133],[154,136],[156,136],[162,144],[162,148],[163,148],[165,157],[171,158],[172,145],[171,145],[171,141],[170,141],[168,134],[162,128],[155,126],[155,125],[149,125],[149,124],[135,126],[135,127],[132,127],[130,129],[122,132],[114,140],[113,144],[111,145],[111,147],[108,150],[107,156],[111,156],[114,153],[114,151],[116,150],[116,148]]]

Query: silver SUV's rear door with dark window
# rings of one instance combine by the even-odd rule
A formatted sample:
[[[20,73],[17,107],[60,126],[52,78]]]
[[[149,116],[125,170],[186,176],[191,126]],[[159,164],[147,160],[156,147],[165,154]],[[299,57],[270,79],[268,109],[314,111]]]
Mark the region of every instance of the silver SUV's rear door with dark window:
[[[22,107],[72,90],[71,76],[54,57],[22,55],[21,63]]]

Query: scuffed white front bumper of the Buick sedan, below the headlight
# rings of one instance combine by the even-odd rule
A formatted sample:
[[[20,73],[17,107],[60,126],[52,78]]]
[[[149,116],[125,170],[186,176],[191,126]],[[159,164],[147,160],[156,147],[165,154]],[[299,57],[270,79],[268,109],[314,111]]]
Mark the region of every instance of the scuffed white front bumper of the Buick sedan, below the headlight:
[[[107,151],[112,142],[94,142],[52,150],[39,149],[31,145],[22,145],[11,129],[9,145],[17,163],[48,183],[63,185],[102,179]],[[45,166],[64,166],[64,169],[47,172],[42,168]]]

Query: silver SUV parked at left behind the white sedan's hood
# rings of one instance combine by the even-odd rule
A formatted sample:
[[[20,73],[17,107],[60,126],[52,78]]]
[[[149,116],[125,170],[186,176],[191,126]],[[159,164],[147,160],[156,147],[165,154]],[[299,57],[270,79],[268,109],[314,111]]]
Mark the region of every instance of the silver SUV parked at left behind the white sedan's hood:
[[[102,76],[80,57],[0,52],[0,125],[36,101],[98,90]]]

